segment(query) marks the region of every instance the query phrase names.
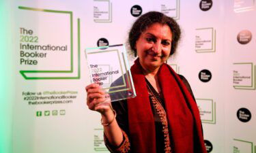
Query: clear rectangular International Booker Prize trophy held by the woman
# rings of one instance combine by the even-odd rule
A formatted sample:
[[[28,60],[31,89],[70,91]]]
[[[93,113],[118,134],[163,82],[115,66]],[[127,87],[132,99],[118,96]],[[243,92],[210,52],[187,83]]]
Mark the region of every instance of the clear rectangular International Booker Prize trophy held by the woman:
[[[91,83],[102,86],[112,102],[136,97],[123,44],[86,48],[85,56]]]

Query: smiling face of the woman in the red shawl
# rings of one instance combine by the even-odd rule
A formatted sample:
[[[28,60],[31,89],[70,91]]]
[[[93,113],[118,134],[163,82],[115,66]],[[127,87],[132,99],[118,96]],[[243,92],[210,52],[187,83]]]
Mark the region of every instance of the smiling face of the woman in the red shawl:
[[[167,24],[154,23],[136,41],[139,62],[145,71],[154,71],[165,63],[171,52],[171,29]]]

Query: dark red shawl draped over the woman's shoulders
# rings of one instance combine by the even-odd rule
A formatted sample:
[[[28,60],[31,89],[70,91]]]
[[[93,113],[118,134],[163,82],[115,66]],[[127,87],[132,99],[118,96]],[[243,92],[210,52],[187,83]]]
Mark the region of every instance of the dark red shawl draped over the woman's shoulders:
[[[132,152],[156,152],[156,133],[145,76],[139,58],[132,65],[137,97],[128,99]],[[175,153],[206,153],[197,104],[179,76],[167,64],[158,71],[169,122],[171,150]]]

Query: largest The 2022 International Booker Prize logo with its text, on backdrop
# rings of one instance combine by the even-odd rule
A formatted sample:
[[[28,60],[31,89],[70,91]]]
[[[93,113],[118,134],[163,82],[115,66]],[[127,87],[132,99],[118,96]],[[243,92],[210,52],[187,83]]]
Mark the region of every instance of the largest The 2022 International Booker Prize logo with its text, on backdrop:
[[[80,51],[72,44],[79,45],[80,19],[74,20],[70,11],[45,10],[42,7],[18,6],[17,11],[16,37],[20,39],[15,44],[20,57],[20,75],[25,80],[79,79],[80,62],[76,61],[79,61]],[[36,18],[37,22],[31,22],[31,18]],[[38,22],[42,26],[38,27]],[[49,22],[51,26],[46,26]],[[76,22],[78,26],[72,26]],[[78,39],[74,41],[73,37]],[[56,62],[59,57],[61,60]]]

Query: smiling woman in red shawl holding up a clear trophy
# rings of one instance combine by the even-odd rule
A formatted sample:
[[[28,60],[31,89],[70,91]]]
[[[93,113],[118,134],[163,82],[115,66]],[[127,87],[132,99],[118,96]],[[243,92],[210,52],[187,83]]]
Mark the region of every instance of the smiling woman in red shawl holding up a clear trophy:
[[[86,87],[87,105],[100,112],[111,152],[206,152],[190,86],[165,64],[179,39],[175,20],[144,14],[129,33],[130,48],[139,56],[131,68],[137,97],[111,103],[98,84]]]

